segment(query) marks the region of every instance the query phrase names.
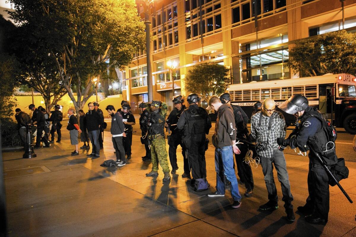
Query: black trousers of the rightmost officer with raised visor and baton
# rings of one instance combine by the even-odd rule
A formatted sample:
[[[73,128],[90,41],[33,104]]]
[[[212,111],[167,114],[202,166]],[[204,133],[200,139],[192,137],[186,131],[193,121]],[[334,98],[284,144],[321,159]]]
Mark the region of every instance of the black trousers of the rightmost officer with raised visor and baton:
[[[315,166],[315,165],[314,165]],[[309,196],[307,198],[307,204],[305,207],[313,210],[313,215],[318,216],[321,219],[328,221],[329,205],[330,205],[330,193],[329,193],[329,176],[325,169],[313,167],[312,163],[309,163],[308,173],[308,191]]]

